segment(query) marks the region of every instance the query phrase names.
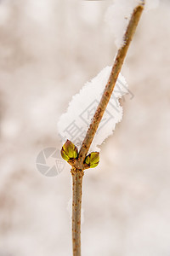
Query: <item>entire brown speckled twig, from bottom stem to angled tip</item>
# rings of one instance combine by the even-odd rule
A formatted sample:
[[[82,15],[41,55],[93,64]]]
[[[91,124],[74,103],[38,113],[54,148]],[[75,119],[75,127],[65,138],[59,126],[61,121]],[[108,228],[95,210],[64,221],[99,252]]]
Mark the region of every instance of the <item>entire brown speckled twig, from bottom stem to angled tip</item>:
[[[112,91],[114,90],[116,79],[121,71],[122,63],[127,54],[128,46],[133,38],[133,34],[139,23],[140,15],[144,9],[144,0],[141,1],[139,6],[133,10],[133,14],[127,26],[127,31],[124,34],[122,47],[118,50],[116,54],[116,59],[111,70],[111,75],[108,83],[105,86],[105,91],[99,106],[94,113],[94,118],[88,128],[86,137],[82,142],[82,147],[80,148],[78,158],[74,160],[69,160],[71,164],[71,174],[72,174],[72,245],[73,245],[73,256],[81,256],[81,206],[82,206],[82,177],[83,170],[87,168],[84,164],[86,155],[88,154],[88,149],[94,139],[94,135],[99,127],[99,122],[105,113],[105,108],[111,98]]]

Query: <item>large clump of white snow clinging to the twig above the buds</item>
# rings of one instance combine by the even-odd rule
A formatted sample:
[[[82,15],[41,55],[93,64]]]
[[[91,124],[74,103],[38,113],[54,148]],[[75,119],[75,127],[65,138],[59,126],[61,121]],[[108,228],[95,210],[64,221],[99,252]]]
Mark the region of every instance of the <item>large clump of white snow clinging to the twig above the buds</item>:
[[[81,145],[110,73],[111,67],[105,67],[94,79],[82,87],[79,94],[72,97],[67,112],[61,115],[58,122],[59,135],[62,137],[63,143],[65,143],[66,139],[69,139],[77,146]],[[101,145],[107,137],[111,136],[116,124],[122,120],[122,107],[118,99],[127,92],[127,83],[120,74],[116,81],[111,100],[94,137],[90,148],[91,151],[99,150],[97,146]]]

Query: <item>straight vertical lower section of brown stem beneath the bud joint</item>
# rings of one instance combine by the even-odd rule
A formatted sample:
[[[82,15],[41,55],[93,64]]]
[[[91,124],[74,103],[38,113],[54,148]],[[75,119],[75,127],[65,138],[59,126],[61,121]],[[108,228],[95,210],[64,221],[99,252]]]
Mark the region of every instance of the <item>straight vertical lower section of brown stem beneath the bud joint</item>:
[[[71,169],[72,174],[72,245],[73,255],[81,255],[81,208],[82,208],[82,177],[84,172]]]

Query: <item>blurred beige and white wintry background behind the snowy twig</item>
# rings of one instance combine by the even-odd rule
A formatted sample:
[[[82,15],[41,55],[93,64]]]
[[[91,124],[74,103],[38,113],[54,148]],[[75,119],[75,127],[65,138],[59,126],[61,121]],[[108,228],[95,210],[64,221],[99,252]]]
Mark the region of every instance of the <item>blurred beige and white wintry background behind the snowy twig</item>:
[[[71,255],[70,166],[37,170],[61,147],[71,96],[116,54],[111,1],[0,1],[0,256]],[[122,74],[133,92],[83,178],[82,255],[170,255],[170,1],[145,12]],[[124,19],[124,17],[122,17]]]

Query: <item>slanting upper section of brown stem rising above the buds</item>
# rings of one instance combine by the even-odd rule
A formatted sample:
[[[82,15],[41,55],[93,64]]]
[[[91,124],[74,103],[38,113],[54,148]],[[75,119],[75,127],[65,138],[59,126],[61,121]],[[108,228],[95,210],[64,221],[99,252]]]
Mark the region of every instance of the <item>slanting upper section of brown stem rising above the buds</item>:
[[[94,118],[92,119],[92,122],[88,128],[86,137],[82,142],[82,147],[80,148],[79,152],[79,157],[82,162],[88,154],[88,149],[90,148],[90,145],[94,139],[94,135],[99,127],[99,122],[102,119],[103,114],[105,113],[105,108],[107,107],[107,104],[111,98],[112,91],[114,90],[116,84],[116,79],[121,71],[123,61],[127,55],[127,49],[130,42],[132,41],[133,34],[139,23],[140,15],[142,14],[143,9],[144,3],[141,3],[133,10],[133,15],[131,16],[131,19],[127,26],[127,31],[125,32],[123,37],[122,47],[118,50],[116,54],[116,60],[112,67],[110,78],[108,80],[108,83],[105,85],[105,91],[103,93],[103,96],[101,97],[99,106],[94,113]]]

